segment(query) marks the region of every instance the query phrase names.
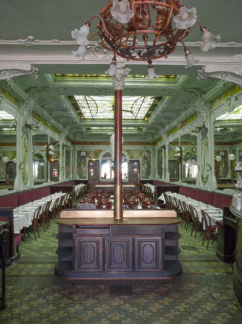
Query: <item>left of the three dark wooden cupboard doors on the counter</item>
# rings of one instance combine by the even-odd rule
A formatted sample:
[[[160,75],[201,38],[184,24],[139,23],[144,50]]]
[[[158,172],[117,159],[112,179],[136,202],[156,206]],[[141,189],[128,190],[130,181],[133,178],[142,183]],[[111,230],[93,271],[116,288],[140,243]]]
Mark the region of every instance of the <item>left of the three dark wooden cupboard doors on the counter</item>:
[[[102,271],[102,237],[74,238],[74,269]]]

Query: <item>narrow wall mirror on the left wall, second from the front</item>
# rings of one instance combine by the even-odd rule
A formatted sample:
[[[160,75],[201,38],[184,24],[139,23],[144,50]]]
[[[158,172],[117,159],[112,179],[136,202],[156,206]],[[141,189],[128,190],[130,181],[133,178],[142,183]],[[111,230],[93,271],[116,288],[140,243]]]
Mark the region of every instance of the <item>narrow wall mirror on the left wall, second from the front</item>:
[[[32,144],[33,144],[33,178],[34,184],[38,185],[46,182],[48,179],[47,172],[47,157],[43,153],[45,151],[44,146],[48,143],[47,134],[33,130],[32,132]]]

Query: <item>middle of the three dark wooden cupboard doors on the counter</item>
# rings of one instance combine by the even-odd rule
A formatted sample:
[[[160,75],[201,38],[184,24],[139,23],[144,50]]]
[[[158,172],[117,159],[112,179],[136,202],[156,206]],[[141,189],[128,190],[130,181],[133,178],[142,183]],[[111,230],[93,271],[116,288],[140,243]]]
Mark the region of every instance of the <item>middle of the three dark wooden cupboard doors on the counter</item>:
[[[131,271],[133,246],[129,237],[106,239],[106,270]]]

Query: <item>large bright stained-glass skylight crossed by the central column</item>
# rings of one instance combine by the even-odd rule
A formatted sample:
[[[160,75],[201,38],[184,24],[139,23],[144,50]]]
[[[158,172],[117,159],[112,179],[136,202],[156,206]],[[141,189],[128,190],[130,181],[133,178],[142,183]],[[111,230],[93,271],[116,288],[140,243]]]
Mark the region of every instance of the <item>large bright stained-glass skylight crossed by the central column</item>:
[[[71,103],[80,118],[114,119],[114,96],[71,96]],[[144,119],[161,101],[162,97],[123,96],[123,119]]]

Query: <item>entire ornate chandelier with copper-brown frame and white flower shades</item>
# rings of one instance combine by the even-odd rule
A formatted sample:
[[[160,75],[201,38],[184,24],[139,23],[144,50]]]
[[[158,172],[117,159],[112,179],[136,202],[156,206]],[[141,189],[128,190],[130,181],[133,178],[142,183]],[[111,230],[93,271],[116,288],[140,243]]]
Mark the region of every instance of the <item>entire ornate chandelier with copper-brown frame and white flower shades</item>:
[[[98,31],[89,36],[91,20],[98,18]],[[203,51],[216,47],[220,35],[214,36],[197,20],[196,9],[188,9],[177,0],[111,0],[100,15],[93,15],[78,30],[72,31],[72,37],[79,44],[73,54],[84,60],[86,47],[90,39],[98,35],[100,44],[114,52],[113,61],[106,73],[116,73],[116,55],[134,61],[147,61],[148,78],[157,77],[152,66],[152,60],[167,58],[177,44],[184,46],[187,65],[191,67],[198,61],[193,58],[183,39],[198,23],[202,31]]]

